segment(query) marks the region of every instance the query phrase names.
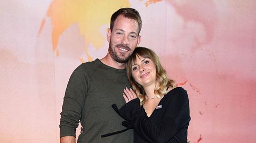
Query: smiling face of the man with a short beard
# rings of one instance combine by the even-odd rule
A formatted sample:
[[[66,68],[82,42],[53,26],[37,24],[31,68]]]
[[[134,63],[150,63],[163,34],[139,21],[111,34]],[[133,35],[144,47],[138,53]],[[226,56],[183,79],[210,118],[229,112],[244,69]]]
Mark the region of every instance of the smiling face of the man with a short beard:
[[[108,29],[108,52],[118,63],[126,63],[135,47],[140,43],[138,22],[119,15],[113,30]]]

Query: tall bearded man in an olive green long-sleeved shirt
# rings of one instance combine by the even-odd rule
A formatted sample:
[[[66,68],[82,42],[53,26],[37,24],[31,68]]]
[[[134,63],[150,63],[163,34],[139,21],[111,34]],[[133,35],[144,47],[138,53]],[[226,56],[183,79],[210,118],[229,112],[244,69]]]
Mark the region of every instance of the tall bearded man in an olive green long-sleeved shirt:
[[[79,121],[80,142],[133,142],[133,130],[101,138],[102,134],[123,130],[122,119],[111,108],[125,104],[122,93],[130,87],[125,63],[140,43],[141,18],[131,8],[111,16],[107,30],[108,53],[101,60],[83,63],[72,73],[66,89],[60,119],[60,142],[75,143]]]

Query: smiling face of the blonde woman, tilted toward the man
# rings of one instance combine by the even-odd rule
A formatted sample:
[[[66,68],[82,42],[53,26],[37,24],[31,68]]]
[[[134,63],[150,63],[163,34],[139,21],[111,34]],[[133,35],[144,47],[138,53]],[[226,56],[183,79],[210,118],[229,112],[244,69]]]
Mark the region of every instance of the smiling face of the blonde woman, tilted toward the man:
[[[132,65],[132,77],[142,87],[155,86],[156,65],[147,57],[136,56],[136,63]]]

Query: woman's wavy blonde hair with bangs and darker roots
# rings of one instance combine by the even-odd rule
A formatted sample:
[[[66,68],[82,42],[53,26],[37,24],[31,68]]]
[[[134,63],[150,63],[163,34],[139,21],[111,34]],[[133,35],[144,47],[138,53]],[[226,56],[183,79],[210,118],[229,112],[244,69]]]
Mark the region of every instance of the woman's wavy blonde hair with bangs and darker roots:
[[[158,56],[153,52],[151,49],[145,47],[137,47],[134,49],[132,55],[130,56],[127,64],[126,64],[126,71],[127,77],[129,82],[132,86],[133,91],[136,93],[137,97],[140,99],[140,105],[142,106],[145,103],[145,91],[138,82],[134,80],[132,77],[132,65],[136,63],[137,56],[141,56],[144,58],[149,58],[151,61],[154,62],[156,66],[156,87],[155,87],[155,94],[157,98],[162,98],[167,91],[165,87],[175,87],[174,80],[168,79],[166,75],[166,71],[163,69]]]

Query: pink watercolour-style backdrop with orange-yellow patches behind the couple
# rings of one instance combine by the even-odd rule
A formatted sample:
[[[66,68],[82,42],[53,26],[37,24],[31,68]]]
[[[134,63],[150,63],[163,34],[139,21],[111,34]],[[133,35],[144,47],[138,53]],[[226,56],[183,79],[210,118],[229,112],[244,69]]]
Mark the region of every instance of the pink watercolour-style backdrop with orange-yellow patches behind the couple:
[[[254,0],[1,1],[0,142],[59,142],[69,76],[106,55],[120,7],[140,12],[140,46],[188,91],[191,142],[255,142]]]

